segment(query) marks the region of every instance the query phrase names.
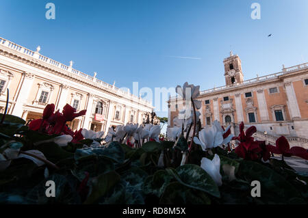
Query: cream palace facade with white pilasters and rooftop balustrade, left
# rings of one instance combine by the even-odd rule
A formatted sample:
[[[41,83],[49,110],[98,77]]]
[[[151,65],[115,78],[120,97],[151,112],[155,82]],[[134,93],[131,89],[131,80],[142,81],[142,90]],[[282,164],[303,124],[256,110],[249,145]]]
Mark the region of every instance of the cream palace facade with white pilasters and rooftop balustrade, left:
[[[94,77],[40,54],[40,46],[31,51],[0,38],[0,113],[5,109],[9,89],[8,113],[24,120],[42,117],[47,104],[55,109],[69,104],[84,116],[68,123],[79,128],[105,131],[127,122],[142,124],[145,113],[153,111],[148,101],[120,90]]]

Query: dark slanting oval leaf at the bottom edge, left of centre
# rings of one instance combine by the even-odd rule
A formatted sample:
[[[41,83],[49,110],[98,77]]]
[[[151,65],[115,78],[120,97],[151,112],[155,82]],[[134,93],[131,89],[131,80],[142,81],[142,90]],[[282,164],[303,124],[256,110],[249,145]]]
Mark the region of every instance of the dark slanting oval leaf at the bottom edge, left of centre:
[[[97,200],[106,195],[118,181],[120,181],[120,175],[115,171],[107,172],[94,178],[92,180],[92,191],[84,204],[93,204],[97,202]]]

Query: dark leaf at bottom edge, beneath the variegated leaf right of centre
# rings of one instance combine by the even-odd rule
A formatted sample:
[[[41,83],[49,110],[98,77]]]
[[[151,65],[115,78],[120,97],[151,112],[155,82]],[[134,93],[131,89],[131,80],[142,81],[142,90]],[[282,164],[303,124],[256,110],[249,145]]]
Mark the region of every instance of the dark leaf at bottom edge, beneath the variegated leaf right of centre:
[[[180,182],[171,182],[165,189],[159,204],[210,204],[203,191],[188,189]]]

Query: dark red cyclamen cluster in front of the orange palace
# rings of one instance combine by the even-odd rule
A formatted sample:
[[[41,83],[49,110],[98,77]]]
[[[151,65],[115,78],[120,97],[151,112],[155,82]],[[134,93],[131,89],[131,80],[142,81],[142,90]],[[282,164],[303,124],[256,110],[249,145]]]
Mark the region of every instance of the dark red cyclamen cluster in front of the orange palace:
[[[253,133],[257,131],[255,126],[249,127],[244,132],[244,122],[240,124],[240,135],[233,137],[240,141],[238,147],[235,148],[236,154],[243,159],[257,160],[263,158],[264,161],[270,159],[270,153],[282,154],[283,156],[300,156],[303,159],[308,159],[308,152],[305,148],[298,146],[292,147],[284,136],[279,137],[276,141],[276,146],[266,145],[266,141],[254,141]]]

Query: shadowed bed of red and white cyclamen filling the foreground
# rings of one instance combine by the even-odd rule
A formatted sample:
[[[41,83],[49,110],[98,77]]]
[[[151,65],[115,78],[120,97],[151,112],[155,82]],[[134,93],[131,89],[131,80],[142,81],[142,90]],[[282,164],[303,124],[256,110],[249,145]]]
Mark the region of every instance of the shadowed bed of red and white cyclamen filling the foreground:
[[[275,153],[308,159],[305,149],[290,149],[284,137],[275,146],[255,141],[255,126],[244,132],[241,124],[238,137],[217,121],[201,129],[198,87],[185,83],[179,91],[184,98],[187,87],[192,113],[175,119],[168,141],[159,139],[160,128],[152,124],[110,128],[105,139],[103,132],[73,132],[66,122],[86,111],[75,113],[69,105],[62,113],[47,105],[42,119],[29,124],[1,115],[0,203],[307,204],[307,176],[283,158],[271,158]],[[239,142],[235,150],[232,139]],[[47,197],[49,180],[55,197]],[[255,180],[260,197],[251,194]]]

